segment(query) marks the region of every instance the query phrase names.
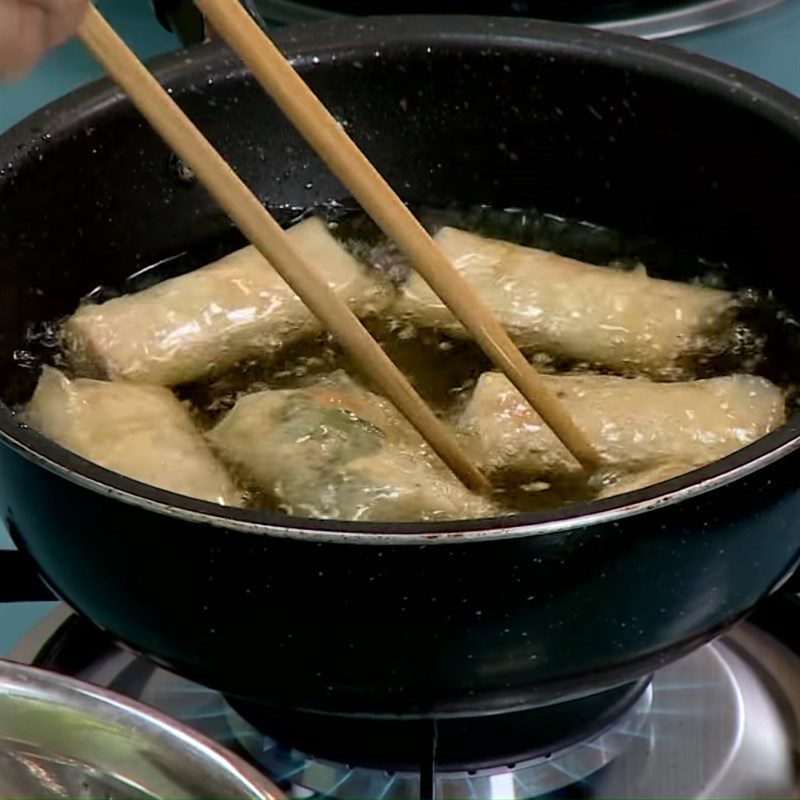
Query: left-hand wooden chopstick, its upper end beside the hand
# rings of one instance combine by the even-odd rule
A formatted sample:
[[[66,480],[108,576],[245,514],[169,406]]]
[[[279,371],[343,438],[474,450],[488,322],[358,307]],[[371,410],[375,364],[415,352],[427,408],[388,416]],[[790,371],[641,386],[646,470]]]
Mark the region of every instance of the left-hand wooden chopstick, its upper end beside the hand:
[[[194,170],[241,232],[323,325],[335,334],[342,346],[355,357],[356,363],[445,464],[470,489],[488,491],[489,482],[462,450],[453,431],[428,408],[347,304],[302,259],[258,198],[92,5],[86,12],[79,35],[134,106]]]

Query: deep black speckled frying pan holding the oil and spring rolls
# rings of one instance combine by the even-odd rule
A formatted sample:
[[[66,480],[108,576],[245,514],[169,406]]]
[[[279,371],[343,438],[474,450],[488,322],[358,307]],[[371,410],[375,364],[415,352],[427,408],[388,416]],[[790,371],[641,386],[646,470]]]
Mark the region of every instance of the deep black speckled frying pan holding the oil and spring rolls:
[[[500,19],[277,39],[406,199],[537,206],[647,234],[727,261],[800,312],[800,102],[778,89],[667,47]],[[265,202],[344,196],[222,47],[157,72]],[[238,243],[104,83],[1,137],[0,164],[7,403],[35,380],[12,363],[29,321],[184,250],[188,268],[212,238]],[[329,524],[142,486],[0,407],[0,509],[70,605],[240,700],[348,714],[523,708],[635,681],[791,572],[799,475],[795,415],[689,476],[555,514]]]

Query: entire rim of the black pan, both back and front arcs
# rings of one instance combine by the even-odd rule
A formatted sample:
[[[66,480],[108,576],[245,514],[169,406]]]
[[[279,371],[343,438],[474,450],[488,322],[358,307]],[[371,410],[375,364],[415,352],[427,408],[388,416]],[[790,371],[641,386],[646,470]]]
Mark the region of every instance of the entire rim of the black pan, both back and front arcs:
[[[398,33],[398,23],[402,23]],[[778,127],[790,130],[800,147],[800,99],[760,78],[703,56],[686,53],[662,43],[645,42],[621,34],[563,23],[546,23],[499,17],[393,16],[333,20],[283,29],[276,43],[300,66],[325,63],[343,52],[372,53],[376,46],[403,47],[428,43],[436,46],[481,46],[498,51],[525,46],[568,47],[570,52],[591,55],[613,63],[618,69],[649,70],[666,77],[678,72],[697,88],[717,94],[729,102],[758,108]],[[324,44],[320,44],[323,41]],[[227,79],[246,73],[238,59],[221,43],[178,50],[148,62],[160,81],[169,83],[198,62],[229,67]],[[732,91],[731,83],[736,92]],[[78,117],[76,106],[95,111],[122,102],[122,94],[106,79],[82,87],[35,112],[0,136],[0,156],[14,152],[25,158],[35,138],[34,131],[55,124],[59,132],[69,129]],[[74,125],[75,123],[72,122]],[[12,160],[0,158],[0,160]],[[2,181],[0,180],[0,185]],[[101,495],[183,521],[204,523],[228,532],[252,533],[316,542],[367,545],[428,545],[539,536],[614,523],[657,508],[672,506],[741,480],[770,464],[800,451],[800,414],[757,442],[719,461],[669,481],[606,500],[575,503],[549,512],[518,514],[449,523],[356,523],[312,520],[276,512],[246,511],[216,506],[139,483],[104,469],[60,447],[19,422],[0,402],[0,444],[49,472]]]

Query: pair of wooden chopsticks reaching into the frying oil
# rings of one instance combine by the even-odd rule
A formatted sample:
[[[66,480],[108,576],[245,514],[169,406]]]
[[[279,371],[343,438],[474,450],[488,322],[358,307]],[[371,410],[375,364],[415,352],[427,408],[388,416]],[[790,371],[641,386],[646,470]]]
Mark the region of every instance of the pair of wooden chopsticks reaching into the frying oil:
[[[459,275],[238,0],[195,0],[195,4],[364,210],[405,251],[414,268],[483,351],[575,458],[585,468],[593,469],[598,463],[594,448],[513,344],[491,309]],[[450,469],[471,489],[487,490],[488,481],[471,463],[454,434],[414,391],[347,304],[301,258],[258,198],[93,6],[86,13],[80,37],[134,106],[194,170],[242,233],[355,356],[356,363],[361,364]]]

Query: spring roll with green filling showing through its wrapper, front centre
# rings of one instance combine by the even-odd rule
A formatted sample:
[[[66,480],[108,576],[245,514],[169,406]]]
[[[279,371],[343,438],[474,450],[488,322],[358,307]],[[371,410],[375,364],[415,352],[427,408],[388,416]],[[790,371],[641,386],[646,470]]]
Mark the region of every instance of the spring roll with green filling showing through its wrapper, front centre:
[[[208,437],[289,514],[399,522],[497,513],[386,401],[341,380],[246,395]]]

